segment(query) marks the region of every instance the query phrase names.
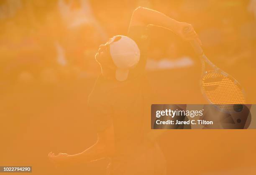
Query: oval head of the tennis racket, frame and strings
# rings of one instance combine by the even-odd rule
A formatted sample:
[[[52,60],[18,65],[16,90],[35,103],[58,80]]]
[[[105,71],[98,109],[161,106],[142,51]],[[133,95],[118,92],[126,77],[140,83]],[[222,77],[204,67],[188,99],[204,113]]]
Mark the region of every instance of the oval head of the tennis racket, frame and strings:
[[[204,97],[221,110],[233,112],[234,104],[246,103],[246,95],[239,82],[220,69],[204,70],[200,87]]]

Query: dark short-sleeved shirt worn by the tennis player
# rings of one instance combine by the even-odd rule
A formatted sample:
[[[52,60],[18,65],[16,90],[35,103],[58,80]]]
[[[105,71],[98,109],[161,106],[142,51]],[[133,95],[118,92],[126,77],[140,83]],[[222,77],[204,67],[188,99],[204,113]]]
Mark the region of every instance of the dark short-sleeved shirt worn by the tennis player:
[[[138,45],[141,57],[138,65],[129,72],[123,82],[106,79],[100,75],[89,96],[88,106],[92,123],[98,132],[113,123],[115,134],[115,156],[122,159],[135,152],[150,130],[150,98],[144,69],[146,65],[146,28],[132,27],[128,32]]]

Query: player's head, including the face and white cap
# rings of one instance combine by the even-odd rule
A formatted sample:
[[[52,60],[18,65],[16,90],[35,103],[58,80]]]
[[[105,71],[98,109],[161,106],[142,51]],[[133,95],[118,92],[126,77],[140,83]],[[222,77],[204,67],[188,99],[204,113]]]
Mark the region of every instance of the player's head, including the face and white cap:
[[[100,63],[103,74],[104,71],[112,72],[116,80],[124,81],[129,71],[138,64],[140,50],[131,38],[116,35],[105,45],[100,45],[95,59]]]

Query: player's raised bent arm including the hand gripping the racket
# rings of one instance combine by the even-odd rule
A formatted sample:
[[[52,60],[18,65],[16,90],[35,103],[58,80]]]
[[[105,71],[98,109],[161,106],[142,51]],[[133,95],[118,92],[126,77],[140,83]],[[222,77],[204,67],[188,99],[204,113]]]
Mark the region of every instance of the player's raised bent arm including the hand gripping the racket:
[[[176,21],[163,13],[156,10],[151,10],[145,7],[137,7],[133,11],[131,22],[129,28],[132,26],[147,26],[147,25],[157,25],[163,28],[172,30],[175,34],[182,37],[184,40],[195,40],[198,39],[197,33],[191,24]],[[184,32],[184,30],[187,32]],[[200,42],[201,43],[201,42]]]

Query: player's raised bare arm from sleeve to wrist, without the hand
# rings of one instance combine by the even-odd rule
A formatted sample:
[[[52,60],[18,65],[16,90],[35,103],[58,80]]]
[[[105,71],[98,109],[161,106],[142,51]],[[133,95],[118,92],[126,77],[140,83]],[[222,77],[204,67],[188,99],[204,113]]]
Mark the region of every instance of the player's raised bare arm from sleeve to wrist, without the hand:
[[[169,18],[163,13],[145,7],[138,7],[134,10],[130,25],[136,25],[136,23],[139,25],[158,25],[168,28],[173,32],[175,32],[177,25],[179,25],[178,21]]]

